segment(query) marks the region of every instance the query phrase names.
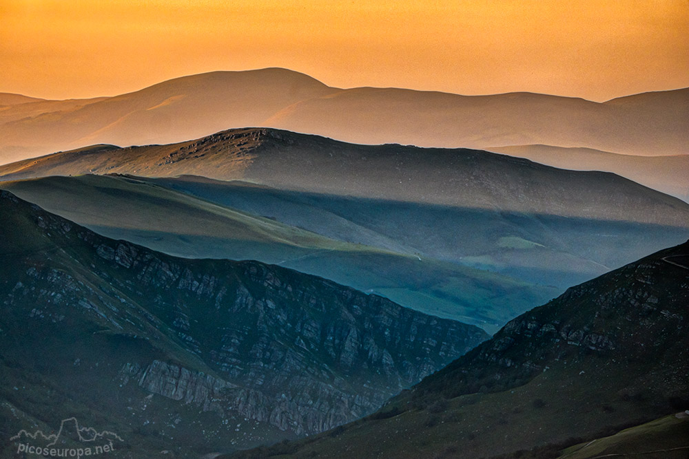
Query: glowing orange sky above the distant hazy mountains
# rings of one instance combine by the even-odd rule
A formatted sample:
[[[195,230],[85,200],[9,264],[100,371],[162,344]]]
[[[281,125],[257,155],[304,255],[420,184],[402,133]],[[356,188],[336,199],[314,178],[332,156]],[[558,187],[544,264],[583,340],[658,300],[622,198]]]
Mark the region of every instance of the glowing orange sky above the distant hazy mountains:
[[[338,87],[592,100],[689,86],[689,0],[0,0],[0,92],[287,67]]]

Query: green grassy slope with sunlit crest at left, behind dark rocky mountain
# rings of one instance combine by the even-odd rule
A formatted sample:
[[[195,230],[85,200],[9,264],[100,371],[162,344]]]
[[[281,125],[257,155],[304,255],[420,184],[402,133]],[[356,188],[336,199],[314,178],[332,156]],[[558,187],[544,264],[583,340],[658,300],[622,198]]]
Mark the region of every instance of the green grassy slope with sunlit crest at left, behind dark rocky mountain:
[[[253,244],[260,257],[277,263],[309,250],[357,249],[353,244],[218,206],[137,178],[51,177],[2,182],[0,187],[107,237],[121,238],[136,232],[142,241],[158,239],[154,248],[172,255],[209,257],[216,250],[218,257],[223,257],[234,250],[232,258],[243,259],[243,247]],[[193,244],[189,242],[192,237]],[[205,244],[200,244],[204,239]]]

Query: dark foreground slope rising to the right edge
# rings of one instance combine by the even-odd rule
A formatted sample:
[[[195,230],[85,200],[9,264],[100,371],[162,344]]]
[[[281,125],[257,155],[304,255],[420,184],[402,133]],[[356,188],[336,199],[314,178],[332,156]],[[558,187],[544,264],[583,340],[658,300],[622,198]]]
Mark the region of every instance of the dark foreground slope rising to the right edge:
[[[689,408],[688,301],[686,242],[522,314],[376,414],[232,457],[556,458]],[[563,458],[630,447],[681,458],[688,422],[657,420]]]

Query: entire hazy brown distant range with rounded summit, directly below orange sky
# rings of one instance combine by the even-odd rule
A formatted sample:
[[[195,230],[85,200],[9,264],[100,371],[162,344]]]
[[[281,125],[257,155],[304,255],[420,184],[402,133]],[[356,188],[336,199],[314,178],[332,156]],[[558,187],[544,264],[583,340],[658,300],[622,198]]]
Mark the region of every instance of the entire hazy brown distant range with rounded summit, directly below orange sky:
[[[121,96],[15,104],[0,113],[1,162],[96,143],[178,142],[247,126],[365,144],[543,144],[644,156],[687,153],[689,143],[689,89],[594,103],[531,93],[339,89],[276,68],[185,76]]]

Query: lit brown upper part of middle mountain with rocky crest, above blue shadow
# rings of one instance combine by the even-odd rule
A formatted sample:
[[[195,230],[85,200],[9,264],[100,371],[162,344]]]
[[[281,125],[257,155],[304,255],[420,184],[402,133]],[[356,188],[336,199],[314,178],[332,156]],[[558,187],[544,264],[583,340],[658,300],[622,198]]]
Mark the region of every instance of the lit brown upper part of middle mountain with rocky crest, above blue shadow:
[[[96,145],[0,166],[2,180],[86,173],[200,175],[355,198],[653,224],[687,222],[679,211],[685,203],[613,174],[564,171],[486,151],[355,145],[277,129],[231,129],[169,145]],[[610,186],[619,193],[609,193]],[[640,201],[630,205],[629,199]],[[615,206],[606,206],[608,202]]]

